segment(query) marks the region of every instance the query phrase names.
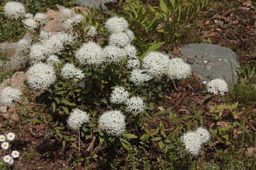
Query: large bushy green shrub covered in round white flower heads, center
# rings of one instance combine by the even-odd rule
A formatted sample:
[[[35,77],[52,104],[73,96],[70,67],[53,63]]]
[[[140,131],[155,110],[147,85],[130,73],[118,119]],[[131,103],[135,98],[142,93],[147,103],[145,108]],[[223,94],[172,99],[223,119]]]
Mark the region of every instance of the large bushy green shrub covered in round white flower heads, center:
[[[173,59],[156,48],[149,46],[145,53],[134,45],[138,38],[125,18],[84,26],[86,17],[63,8],[59,19],[67,31],[50,33],[39,32],[49,22],[44,14],[26,14],[22,22],[34,31],[33,41],[18,42],[31,63],[26,83],[41,90],[58,124],[66,127],[56,130],[62,144],[78,132],[85,140],[97,136],[100,144],[118,142],[129,149],[127,139],[137,137],[129,133],[142,126],[153,100],[170,92],[168,81],[189,73],[178,77],[177,71],[171,77]],[[181,70],[182,65],[173,66]]]

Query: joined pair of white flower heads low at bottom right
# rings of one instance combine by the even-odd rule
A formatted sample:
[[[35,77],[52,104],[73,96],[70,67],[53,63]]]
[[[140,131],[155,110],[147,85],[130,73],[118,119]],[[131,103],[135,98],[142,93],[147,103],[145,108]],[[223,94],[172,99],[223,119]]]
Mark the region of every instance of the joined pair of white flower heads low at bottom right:
[[[182,141],[186,145],[186,149],[197,156],[200,152],[203,143],[206,143],[210,139],[210,133],[206,128],[198,128],[194,132],[186,132],[182,136]]]

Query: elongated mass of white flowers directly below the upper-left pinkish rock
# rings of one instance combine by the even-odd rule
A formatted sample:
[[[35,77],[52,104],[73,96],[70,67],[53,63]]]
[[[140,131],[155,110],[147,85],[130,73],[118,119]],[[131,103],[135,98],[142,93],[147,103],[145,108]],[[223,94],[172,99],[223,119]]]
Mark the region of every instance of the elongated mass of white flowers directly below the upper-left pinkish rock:
[[[71,45],[74,43],[74,37],[66,33],[48,34],[43,31],[40,34],[42,38],[41,42],[35,43],[30,49],[30,59],[34,61],[46,60],[46,57],[60,53],[65,45]]]

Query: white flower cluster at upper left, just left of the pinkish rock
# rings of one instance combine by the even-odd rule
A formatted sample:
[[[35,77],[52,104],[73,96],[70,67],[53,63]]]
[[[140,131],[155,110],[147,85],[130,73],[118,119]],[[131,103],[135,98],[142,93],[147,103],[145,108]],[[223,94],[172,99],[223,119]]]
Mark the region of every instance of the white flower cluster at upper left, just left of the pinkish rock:
[[[38,26],[46,25],[47,16],[42,13],[37,13],[34,16],[33,14],[27,14],[22,22],[28,30],[35,31],[38,29]]]

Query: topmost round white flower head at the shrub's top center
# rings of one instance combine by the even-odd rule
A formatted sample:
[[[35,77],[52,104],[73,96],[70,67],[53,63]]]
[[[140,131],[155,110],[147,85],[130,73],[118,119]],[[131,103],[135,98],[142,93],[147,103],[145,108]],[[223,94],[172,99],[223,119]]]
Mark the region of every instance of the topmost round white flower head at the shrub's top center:
[[[124,18],[109,18],[106,21],[106,30],[110,33],[119,33],[128,29],[128,22]]]

